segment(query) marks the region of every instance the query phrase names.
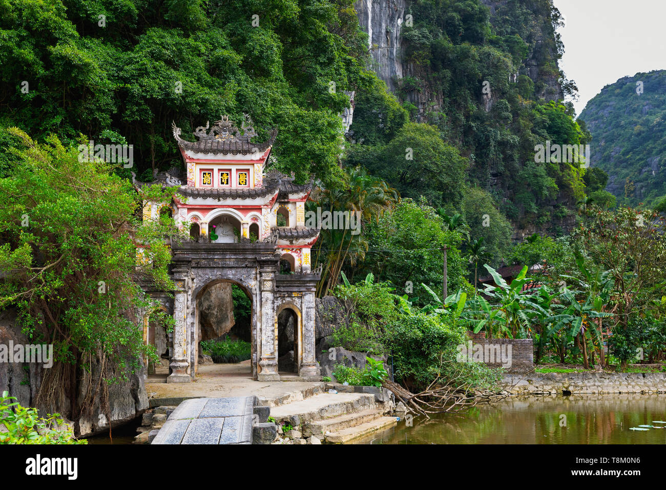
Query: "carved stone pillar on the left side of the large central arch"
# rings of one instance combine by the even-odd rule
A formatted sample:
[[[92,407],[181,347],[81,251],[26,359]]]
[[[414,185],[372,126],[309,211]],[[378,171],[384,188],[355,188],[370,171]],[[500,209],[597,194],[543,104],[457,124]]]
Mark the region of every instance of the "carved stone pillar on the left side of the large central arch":
[[[166,378],[167,383],[189,383],[192,378],[187,373],[190,362],[188,359],[188,335],[187,335],[187,280],[182,275],[181,267],[174,266],[174,283],[176,290],[173,299],[173,350],[171,362],[171,374]]]

